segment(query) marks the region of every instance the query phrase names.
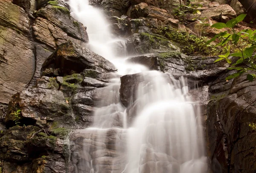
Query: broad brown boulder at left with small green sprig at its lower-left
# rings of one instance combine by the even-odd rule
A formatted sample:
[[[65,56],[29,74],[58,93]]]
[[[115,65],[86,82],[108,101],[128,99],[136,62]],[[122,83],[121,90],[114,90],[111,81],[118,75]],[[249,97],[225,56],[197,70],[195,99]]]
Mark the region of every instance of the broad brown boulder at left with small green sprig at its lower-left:
[[[51,82],[47,85],[56,85]],[[25,123],[35,125],[35,120],[46,119],[56,121],[64,127],[70,127],[74,124],[71,116],[70,105],[64,99],[61,91],[55,91],[45,88],[26,89],[20,94],[16,94],[9,105],[6,116],[6,123],[12,126],[15,115],[11,114],[17,109],[21,110],[21,119],[27,120]]]

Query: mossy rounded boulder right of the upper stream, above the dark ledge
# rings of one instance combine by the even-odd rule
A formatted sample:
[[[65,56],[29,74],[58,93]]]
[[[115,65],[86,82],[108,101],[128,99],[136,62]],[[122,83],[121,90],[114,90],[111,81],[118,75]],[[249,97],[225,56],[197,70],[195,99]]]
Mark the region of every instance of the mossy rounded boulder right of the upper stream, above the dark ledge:
[[[167,52],[179,50],[171,41],[157,34],[132,34],[125,40],[128,54],[145,54],[149,52]]]

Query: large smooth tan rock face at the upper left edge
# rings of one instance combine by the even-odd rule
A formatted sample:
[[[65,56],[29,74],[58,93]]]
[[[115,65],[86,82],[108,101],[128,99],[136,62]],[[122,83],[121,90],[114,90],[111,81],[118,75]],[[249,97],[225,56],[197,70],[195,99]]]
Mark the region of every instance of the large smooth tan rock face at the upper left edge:
[[[35,48],[24,35],[29,34],[29,17],[22,8],[2,0],[0,23],[0,102],[8,104],[11,96],[23,90],[33,77]]]

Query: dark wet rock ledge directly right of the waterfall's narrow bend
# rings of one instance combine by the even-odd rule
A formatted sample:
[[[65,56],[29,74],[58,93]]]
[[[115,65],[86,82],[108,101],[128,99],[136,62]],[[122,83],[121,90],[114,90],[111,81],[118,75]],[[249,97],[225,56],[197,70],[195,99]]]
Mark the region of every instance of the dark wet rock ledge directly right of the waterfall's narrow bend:
[[[169,73],[185,72],[186,55],[176,51],[163,53],[149,53],[131,57],[128,62],[145,65],[151,70],[160,70]]]

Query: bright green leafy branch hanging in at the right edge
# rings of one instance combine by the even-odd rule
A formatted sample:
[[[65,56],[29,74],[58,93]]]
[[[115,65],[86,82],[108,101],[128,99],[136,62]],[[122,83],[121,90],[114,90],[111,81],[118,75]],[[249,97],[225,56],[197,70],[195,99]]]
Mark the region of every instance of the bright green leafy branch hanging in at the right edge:
[[[234,29],[237,23],[244,20],[245,16],[246,14],[240,14],[238,17],[231,19],[227,23],[215,23],[212,25],[212,28],[229,28],[231,30],[231,34],[227,31],[221,32],[207,42],[207,44],[209,44],[217,38],[224,38],[221,39],[221,42],[217,45],[225,47],[226,52],[224,55],[219,55],[219,59],[215,60],[215,62],[225,60],[230,66],[228,68],[229,70],[237,71],[236,73],[228,76],[226,80],[239,77],[244,73],[247,73],[247,80],[250,82],[256,78],[256,75],[252,74],[253,72],[256,72],[256,65],[254,63],[256,55],[253,55],[253,52],[256,49],[256,30],[244,29],[237,32]],[[230,54],[234,47],[237,51]],[[239,59],[234,63],[232,62],[232,57],[239,57]]]

